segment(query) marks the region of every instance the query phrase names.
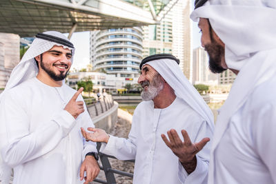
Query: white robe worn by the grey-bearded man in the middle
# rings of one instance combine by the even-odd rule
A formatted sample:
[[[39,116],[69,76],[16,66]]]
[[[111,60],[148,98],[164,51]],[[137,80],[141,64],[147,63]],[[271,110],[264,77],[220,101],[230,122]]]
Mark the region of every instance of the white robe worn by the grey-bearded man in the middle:
[[[178,157],[161,139],[161,134],[167,134],[172,128],[177,130],[182,140],[183,129],[187,130],[193,142],[213,136],[208,123],[184,100],[177,97],[164,109],[154,108],[153,101],[143,101],[133,115],[128,139],[110,136],[108,143],[101,145],[100,152],[120,160],[135,159],[133,183],[206,183],[210,143],[197,154],[196,170],[188,175]]]

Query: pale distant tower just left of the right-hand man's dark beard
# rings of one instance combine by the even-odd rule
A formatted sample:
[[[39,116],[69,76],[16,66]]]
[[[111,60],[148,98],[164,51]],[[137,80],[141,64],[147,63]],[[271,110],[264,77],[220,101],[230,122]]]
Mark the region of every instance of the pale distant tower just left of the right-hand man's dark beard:
[[[204,48],[193,50],[193,84],[217,85],[217,74],[210,72],[208,60]]]

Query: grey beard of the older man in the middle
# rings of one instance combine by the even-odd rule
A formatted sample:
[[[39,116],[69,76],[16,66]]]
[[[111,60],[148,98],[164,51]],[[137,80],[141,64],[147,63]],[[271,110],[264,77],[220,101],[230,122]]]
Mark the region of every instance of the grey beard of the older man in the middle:
[[[141,92],[141,98],[143,101],[150,101],[152,99],[155,99],[155,97],[159,94],[161,90],[163,90],[164,87],[164,81],[162,81],[160,74],[155,74],[152,78],[152,82],[144,81],[141,83],[141,86],[144,87],[148,85],[147,90],[143,90]]]

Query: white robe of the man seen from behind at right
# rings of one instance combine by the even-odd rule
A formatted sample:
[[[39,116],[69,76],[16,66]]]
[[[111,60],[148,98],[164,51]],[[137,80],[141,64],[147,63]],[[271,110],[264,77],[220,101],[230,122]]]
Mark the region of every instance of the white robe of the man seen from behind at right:
[[[210,184],[276,183],[275,94],[274,77],[259,85],[230,118],[213,151]]]

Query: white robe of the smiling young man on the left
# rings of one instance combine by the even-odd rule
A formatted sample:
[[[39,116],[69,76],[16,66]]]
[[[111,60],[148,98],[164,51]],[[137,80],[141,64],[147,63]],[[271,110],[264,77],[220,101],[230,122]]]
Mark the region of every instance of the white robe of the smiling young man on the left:
[[[77,117],[63,110],[76,90],[50,87],[36,77],[8,90],[1,99],[1,155],[14,168],[13,184],[76,184],[88,152],[81,127],[93,127],[86,110]],[[77,101],[83,101],[79,96]]]

